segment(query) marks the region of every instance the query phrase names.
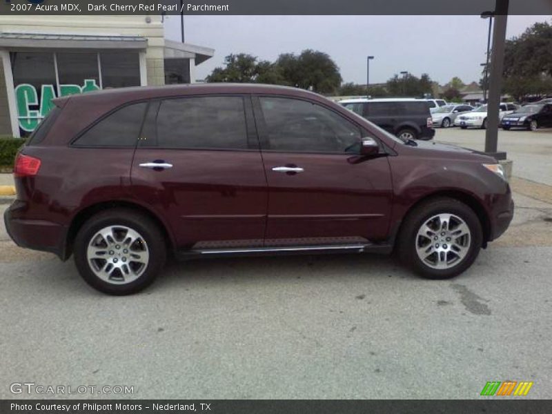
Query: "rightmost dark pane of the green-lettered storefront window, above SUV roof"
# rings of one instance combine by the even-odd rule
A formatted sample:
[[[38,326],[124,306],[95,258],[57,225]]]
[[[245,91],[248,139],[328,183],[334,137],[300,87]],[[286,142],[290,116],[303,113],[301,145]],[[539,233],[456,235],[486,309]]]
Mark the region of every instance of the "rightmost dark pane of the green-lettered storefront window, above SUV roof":
[[[140,86],[140,61],[136,52],[101,52],[103,88]]]

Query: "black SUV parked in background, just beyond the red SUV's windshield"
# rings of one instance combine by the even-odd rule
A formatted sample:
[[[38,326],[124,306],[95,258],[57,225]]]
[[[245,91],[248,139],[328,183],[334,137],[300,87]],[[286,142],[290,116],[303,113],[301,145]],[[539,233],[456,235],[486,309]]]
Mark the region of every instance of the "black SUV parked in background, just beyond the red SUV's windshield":
[[[339,103],[401,139],[435,135],[426,101],[411,98],[346,99]]]

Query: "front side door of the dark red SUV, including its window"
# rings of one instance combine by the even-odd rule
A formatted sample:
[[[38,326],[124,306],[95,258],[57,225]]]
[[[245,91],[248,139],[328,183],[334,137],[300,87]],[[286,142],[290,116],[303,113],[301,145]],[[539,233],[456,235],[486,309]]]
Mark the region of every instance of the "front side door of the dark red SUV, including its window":
[[[266,245],[384,239],[391,172],[385,156],[358,155],[367,132],[303,99],[259,96],[254,107],[268,182]]]

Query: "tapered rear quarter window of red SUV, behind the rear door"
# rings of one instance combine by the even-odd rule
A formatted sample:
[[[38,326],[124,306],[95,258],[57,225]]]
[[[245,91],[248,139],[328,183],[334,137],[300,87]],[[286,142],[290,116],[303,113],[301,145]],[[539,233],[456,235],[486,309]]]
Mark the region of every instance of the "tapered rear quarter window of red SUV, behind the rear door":
[[[86,130],[75,141],[75,146],[86,147],[133,147],[146,111],[146,102],[124,106]]]

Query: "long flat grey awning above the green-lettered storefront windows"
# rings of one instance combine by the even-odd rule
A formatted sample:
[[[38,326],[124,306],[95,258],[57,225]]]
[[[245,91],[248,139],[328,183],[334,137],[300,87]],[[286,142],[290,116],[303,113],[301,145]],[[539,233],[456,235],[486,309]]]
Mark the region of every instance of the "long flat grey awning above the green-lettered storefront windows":
[[[144,50],[147,47],[148,39],[139,36],[0,32],[0,48]]]

